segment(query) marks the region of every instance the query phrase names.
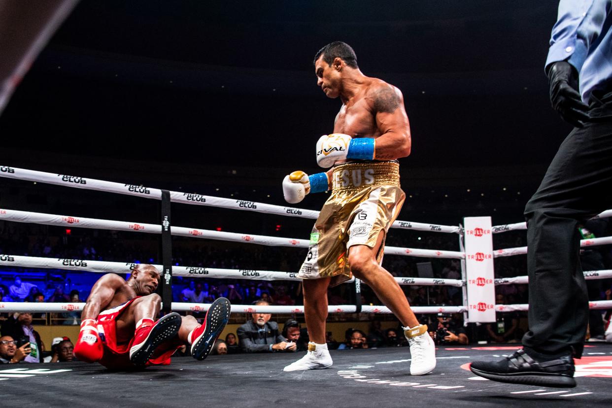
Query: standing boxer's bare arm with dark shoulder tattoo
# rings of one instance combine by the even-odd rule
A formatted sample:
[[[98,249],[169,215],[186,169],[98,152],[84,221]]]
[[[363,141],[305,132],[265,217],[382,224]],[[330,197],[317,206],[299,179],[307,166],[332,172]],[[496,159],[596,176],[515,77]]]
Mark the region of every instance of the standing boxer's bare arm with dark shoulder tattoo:
[[[374,158],[392,160],[410,154],[411,136],[404,97],[395,86],[381,84],[370,95],[376,116],[376,127],[381,133],[376,138]]]

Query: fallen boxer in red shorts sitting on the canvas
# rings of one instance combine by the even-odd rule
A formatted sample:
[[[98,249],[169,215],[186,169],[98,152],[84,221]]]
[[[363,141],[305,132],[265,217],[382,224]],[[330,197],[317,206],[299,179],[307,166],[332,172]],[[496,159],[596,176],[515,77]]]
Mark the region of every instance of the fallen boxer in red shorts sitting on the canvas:
[[[159,271],[147,264],[137,265],[127,281],[114,273],[102,276],[81,314],[76,357],[111,369],[166,365],[187,343],[193,358],[204,360],[228,322],[230,301],[215,300],[203,324],[174,312],[155,321],[162,303],[154,293],[159,280]]]

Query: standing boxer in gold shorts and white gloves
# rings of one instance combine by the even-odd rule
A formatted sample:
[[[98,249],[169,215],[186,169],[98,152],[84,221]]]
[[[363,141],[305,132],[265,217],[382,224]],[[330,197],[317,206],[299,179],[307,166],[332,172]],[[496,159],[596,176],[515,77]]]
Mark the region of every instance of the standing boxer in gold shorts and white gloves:
[[[397,161],[411,150],[403,96],[396,87],[365,76],[346,43],[324,46],[314,63],[318,86],[327,97],[340,97],[342,106],[334,133],[321,136],[316,144],[318,165],[330,169],[311,176],[294,171],[283,180],[283,195],[292,204],[309,193],[332,190],[310,234],[298,275],[304,279],[308,352],[284,371],[332,365],[325,341],[327,287],[354,275],[404,326],[410,373],[427,374],[436,366],[427,325],[419,324],[400,286],[381,266],[387,231],[405,199]]]

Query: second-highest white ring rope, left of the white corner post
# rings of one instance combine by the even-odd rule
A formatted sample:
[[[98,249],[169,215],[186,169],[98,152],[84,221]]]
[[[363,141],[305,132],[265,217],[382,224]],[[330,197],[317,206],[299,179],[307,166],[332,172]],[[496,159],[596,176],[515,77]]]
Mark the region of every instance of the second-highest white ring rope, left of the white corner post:
[[[18,223],[36,223],[78,228],[113,229],[115,231],[136,231],[150,234],[161,234],[159,224],[135,223],[132,221],[100,220],[98,218],[72,217],[29,211],[0,209],[0,220]],[[173,226],[173,236],[195,237],[223,240],[231,242],[248,242],[274,247],[308,248],[310,240],[297,238],[268,237],[253,234],[238,234],[236,232],[212,231],[209,229],[185,228]],[[465,253],[457,251],[422,250],[416,248],[386,247],[385,253],[390,255],[417,256],[422,258],[465,258]]]

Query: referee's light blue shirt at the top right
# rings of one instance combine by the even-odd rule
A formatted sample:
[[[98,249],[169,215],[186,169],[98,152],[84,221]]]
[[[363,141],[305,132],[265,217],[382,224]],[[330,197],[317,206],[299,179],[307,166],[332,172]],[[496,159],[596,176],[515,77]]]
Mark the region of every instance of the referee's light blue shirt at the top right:
[[[612,0],[561,0],[546,66],[567,61],[580,72],[589,103],[597,89],[612,91]]]

